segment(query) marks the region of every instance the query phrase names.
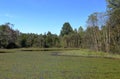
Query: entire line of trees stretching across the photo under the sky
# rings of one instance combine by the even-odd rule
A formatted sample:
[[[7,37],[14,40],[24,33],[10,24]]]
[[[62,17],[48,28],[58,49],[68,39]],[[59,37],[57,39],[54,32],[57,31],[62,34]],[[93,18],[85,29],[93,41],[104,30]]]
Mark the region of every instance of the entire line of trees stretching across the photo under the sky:
[[[0,48],[87,48],[95,51],[120,53],[120,0],[106,0],[106,12],[88,16],[87,28],[73,29],[65,22],[60,35],[21,33],[10,23],[0,25]]]

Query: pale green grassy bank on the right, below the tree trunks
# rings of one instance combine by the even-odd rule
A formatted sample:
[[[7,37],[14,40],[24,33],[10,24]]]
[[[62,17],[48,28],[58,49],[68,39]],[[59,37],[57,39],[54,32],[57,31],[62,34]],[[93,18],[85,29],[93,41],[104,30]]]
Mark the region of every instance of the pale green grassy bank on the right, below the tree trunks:
[[[106,53],[106,52],[95,52],[95,51],[92,51],[92,50],[89,50],[89,49],[64,51],[64,52],[59,53],[59,55],[120,59],[119,54],[112,54],[112,53]]]

